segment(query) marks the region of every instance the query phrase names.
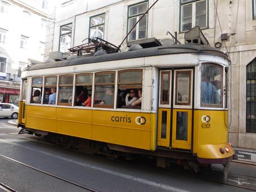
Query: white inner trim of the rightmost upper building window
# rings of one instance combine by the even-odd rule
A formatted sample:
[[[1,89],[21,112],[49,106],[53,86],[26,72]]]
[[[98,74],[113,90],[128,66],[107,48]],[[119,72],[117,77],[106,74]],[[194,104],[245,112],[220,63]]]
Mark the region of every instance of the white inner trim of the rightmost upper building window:
[[[182,12],[182,6],[186,6],[188,4],[192,4],[192,27],[195,27],[196,26],[196,3],[198,2],[202,2],[202,1],[206,1],[206,18],[205,18],[205,26],[206,27],[203,27],[201,29],[206,29],[208,28],[208,0],[195,0],[194,2],[189,2],[189,3],[183,3],[181,4],[181,8],[180,8],[180,11],[181,11],[181,18],[180,18],[180,32],[186,32],[186,31],[182,31],[182,15],[183,15],[183,12]],[[188,31],[188,30],[187,30]]]

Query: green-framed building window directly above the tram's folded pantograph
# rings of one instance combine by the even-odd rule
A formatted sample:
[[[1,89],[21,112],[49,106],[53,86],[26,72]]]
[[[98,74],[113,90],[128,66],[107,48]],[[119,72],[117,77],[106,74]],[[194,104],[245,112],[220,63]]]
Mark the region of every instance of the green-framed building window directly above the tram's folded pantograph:
[[[105,13],[99,16],[90,17],[89,37],[104,38]]]

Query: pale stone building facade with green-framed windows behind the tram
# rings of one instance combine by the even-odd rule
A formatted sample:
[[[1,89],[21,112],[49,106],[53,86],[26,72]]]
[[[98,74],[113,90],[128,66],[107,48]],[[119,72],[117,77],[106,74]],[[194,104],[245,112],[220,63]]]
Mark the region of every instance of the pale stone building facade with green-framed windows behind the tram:
[[[88,37],[119,45],[155,0],[61,1],[50,28],[49,52],[67,52]],[[256,0],[159,0],[132,30],[121,50],[156,38],[172,43],[167,31],[184,34],[199,26],[211,46],[229,53],[229,140],[256,149]],[[86,41],[86,40],[85,40]]]

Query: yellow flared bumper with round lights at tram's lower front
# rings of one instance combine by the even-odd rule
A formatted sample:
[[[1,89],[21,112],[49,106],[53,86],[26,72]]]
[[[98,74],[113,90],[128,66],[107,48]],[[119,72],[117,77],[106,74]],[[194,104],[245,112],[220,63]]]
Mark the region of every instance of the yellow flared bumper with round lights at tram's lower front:
[[[226,164],[233,159],[236,159],[236,155],[229,142],[200,145],[197,152],[197,160],[203,164]]]

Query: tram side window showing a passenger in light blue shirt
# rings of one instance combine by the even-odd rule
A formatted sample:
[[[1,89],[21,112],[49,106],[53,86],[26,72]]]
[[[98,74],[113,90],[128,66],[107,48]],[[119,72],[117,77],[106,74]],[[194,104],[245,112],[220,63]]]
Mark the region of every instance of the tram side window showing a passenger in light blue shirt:
[[[55,105],[56,103],[57,77],[45,77],[45,92],[43,104]]]

